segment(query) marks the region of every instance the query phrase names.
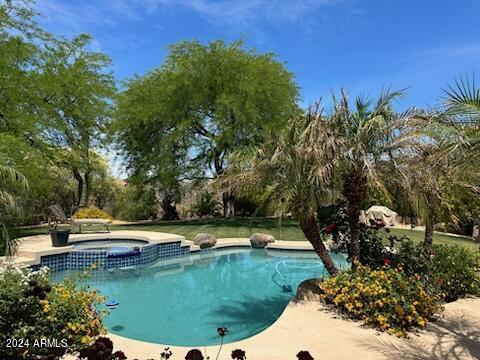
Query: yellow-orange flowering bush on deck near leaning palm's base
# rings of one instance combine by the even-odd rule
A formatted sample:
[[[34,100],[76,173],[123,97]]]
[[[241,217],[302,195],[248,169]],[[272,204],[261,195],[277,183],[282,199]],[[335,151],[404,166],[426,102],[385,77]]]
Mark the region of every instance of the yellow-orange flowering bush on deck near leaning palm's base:
[[[407,336],[424,328],[441,310],[441,297],[426,287],[420,277],[408,276],[401,268],[372,270],[358,264],[355,270],[324,280],[321,299],[349,317],[387,331]]]

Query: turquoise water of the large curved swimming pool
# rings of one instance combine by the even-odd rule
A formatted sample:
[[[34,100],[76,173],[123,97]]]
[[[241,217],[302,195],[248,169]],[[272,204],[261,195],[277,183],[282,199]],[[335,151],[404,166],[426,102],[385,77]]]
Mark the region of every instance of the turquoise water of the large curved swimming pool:
[[[332,256],[337,265],[347,266],[343,255]],[[301,281],[324,274],[313,252],[237,248],[94,271],[88,285],[120,303],[105,318],[110,332],[200,346],[220,343],[217,328],[222,326],[229,329],[225,342],[259,333],[278,319]],[[56,279],[65,275],[54,274]]]

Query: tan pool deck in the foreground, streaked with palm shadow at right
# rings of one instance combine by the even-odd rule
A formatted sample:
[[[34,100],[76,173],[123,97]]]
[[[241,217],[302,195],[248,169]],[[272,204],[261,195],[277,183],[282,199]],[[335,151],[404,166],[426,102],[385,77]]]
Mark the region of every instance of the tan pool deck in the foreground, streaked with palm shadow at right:
[[[235,349],[252,360],[294,360],[300,350],[314,359],[359,360],[467,360],[480,358],[480,299],[462,299],[446,304],[441,320],[426,330],[399,339],[359,322],[341,319],[317,302],[291,302],[280,318],[263,332],[241,341],[223,345],[219,359],[230,359]],[[129,359],[160,359],[167,345],[108,335],[116,350]],[[227,335],[228,339],[228,335]],[[168,346],[170,359],[185,359],[192,347]],[[204,358],[215,359],[218,346],[196,347]]]

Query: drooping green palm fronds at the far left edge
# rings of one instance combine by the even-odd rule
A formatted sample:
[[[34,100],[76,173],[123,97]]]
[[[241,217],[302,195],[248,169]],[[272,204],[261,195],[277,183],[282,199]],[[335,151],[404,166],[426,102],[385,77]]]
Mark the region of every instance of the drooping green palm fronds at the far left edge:
[[[12,256],[16,241],[11,236],[11,222],[20,213],[14,188],[28,190],[27,179],[15,168],[0,164],[0,239],[5,244],[5,253]]]

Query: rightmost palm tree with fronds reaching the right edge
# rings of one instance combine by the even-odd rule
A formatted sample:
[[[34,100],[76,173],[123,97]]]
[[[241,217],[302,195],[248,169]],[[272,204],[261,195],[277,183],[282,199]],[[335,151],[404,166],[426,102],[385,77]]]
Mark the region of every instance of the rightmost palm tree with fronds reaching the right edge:
[[[480,160],[480,90],[468,78],[446,90],[445,108],[417,114],[419,141],[399,162],[402,186],[415,213],[425,222],[424,254],[432,254],[433,226],[458,220],[454,203],[476,196]]]

